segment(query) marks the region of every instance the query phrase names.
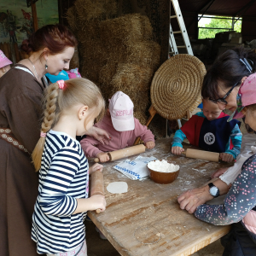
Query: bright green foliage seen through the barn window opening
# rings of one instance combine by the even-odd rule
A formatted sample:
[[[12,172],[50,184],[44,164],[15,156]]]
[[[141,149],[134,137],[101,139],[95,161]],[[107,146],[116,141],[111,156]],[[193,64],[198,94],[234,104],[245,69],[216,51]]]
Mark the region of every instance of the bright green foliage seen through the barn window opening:
[[[229,28],[229,29],[231,29],[231,27],[232,27],[232,20],[211,19],[211,22],[208,23],[208,24],[205,24],[204,27],[214,27],[214,28],[216,27],[216,28]],[[226,32],[226,31],[229,31],[229,29],[199,28],[198,38],[199,39],[215,38],[215,34],[216,33],[218,33],[218,32]],[[236,21],[234,30],[236,32],[241,32],[241,20]]]

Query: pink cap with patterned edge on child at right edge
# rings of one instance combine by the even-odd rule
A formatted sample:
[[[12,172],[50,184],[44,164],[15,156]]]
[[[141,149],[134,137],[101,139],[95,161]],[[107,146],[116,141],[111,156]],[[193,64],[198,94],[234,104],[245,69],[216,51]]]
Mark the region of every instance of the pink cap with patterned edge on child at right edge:
[[[238,94],[236,96],[237,108],[234,113],[230,115],[231,119],[241,119],[244,114],[241,110],[249,105],[256,104],[256,73],[251,74],[241,84]]]

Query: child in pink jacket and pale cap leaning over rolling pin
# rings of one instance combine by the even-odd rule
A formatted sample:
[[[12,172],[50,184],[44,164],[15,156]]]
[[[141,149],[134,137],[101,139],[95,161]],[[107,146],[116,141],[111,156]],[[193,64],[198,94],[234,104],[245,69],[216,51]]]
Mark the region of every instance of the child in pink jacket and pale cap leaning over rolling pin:
[[[154,148],[153,133],[133,117],[133,107],[130,97],[122,91],[112,96],[108,113],[95,125],[107,131],[111,141],[107,145],[93,137],[85,137],[80,143],[87,157],[97,157],[101,162],[106,162],[109,156],[105,152],[131,147],[137,137],[141,137],[147,148]]]

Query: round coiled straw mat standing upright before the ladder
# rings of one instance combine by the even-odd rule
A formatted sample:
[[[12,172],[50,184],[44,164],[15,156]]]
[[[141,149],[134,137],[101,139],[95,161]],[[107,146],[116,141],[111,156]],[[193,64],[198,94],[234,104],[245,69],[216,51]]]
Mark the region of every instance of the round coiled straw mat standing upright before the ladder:
[[[164,62],[150,88],[151,102],[162,117],[181,119],[201,103],[205,65],[192,55],[175,55]]]

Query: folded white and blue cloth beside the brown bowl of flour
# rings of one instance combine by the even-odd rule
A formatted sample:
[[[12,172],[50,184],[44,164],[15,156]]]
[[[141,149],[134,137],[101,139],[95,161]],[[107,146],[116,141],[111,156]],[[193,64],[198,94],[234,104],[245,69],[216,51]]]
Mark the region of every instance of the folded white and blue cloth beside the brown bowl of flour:
[[[143,157],[139,155],[135,160],[127,159],[119,162],[116,166],[113,166],[113,168],[133,180],[143,179],[148,177],[149,172],[147,165],[153,160],[157,159],[154,156]]]

